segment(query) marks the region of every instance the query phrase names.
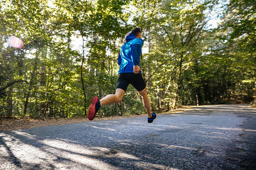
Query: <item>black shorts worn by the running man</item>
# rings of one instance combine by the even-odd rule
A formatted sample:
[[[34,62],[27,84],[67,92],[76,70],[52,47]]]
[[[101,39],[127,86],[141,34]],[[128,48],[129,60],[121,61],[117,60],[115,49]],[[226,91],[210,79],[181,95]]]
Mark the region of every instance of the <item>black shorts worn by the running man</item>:
[[[116,89],[123,89],[126,91],[129,84],[138,90],[139,92],[146,87],[146,83],[143,80],[141,74],[135,73],[120,73],[118,76],[118,81],[116,85]]]

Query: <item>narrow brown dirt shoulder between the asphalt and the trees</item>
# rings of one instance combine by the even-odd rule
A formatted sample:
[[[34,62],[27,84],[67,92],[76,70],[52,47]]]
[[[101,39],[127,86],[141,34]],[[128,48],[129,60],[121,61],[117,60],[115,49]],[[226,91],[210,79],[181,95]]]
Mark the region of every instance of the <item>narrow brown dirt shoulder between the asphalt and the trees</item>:
[[[179,108],[177,110],[161,112],[157,114],[166,113],[177,113],[180,111],[188,110],[191,106],[186,106]],[[147,115],[128,115],[128,116],[113,116],[113,117],[95,117],[93,121],[100,120],[113,120],[119,118],[131,118],[131,117],[143,117]],[[0,118],[0,131],[12,131],[17,129],[28,129],[34,127],[42,127],[49,125],[65,125],[65,124],[75,124],[82,122],[89,122],[86,117],[75,117],[75,118]]]

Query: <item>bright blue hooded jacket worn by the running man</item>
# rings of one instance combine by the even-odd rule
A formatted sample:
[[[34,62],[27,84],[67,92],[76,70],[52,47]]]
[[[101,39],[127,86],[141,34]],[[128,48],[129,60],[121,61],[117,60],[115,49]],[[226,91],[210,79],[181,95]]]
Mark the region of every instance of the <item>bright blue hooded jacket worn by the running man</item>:
[[[143,40],[136,38],[132,32],[126,37],[126,43],[121,47],[118,56],[118,65],[120,65],[118,74],[134,73],[133,66],[140,66],[142,46]],[[141,73],[141,71],[139,73]]]

